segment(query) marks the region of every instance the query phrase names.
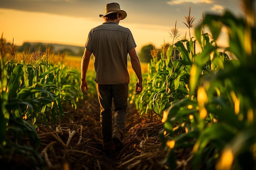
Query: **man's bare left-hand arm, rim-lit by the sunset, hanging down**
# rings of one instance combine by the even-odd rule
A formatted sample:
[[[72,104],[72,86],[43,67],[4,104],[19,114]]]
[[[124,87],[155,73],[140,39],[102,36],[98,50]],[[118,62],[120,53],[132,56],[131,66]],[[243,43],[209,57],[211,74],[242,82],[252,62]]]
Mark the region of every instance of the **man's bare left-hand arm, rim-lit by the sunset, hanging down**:
[[[82,58],[82,61],[81,61],[81,91],[85,95],[87,95],[87,92],[85,91],[85,88],[88,91],[88,84],[87,84],[87,81],[86,81],[86,74],[87,74],[87,71],[88,71],[88,66],[89,66],[91,55],[92,55],[92,52],[85,48],[85,51],[83,53],[83,58]]]

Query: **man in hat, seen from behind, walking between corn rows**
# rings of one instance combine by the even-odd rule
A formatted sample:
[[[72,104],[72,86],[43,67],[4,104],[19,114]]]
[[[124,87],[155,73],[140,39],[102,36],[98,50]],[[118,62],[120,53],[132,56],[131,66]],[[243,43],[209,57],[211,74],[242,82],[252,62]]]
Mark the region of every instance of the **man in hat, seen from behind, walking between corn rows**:
[[[105,22],[91,29],[85,43],[81,62],[81,91],[87,95],[86,73],[90,56],[94,56],[96,88],[101,106],[101,132],[104,150],[120,151],[124,148],[123,134],[126,129],[126,108],[128,104],[127,55],[129,53],[132,68],[138,81],[136,94],[142,91],[142,75],[139,58],[135,51],[135,41],[128,28],[119,25],[126,18],[125,11],[118,3],[106,4],[106,12],[99,15]],[[86,89],[86,91],[85,91]],[[115,105],[115,123],[112,128],[112,99]]]

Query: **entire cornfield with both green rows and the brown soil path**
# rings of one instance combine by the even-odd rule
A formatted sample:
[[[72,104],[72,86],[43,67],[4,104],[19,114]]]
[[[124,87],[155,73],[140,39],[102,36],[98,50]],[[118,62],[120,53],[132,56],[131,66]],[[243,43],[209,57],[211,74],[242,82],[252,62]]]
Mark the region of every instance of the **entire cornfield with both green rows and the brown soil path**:
[[[17,53],[1,37],[0,169],[255,170],[256,23],[248,4],[246,18],[204,16],[195,37],[177,40],[171,29],[173,44],[142,63],[139,95],[128,66],[125,146],[110,156],[102,151],[93,60],[85,96],[81,57],[54,58],[36,45]],[[190,31],[194,18],[185,18]],[[227,48],[216,43],[223,27]]]

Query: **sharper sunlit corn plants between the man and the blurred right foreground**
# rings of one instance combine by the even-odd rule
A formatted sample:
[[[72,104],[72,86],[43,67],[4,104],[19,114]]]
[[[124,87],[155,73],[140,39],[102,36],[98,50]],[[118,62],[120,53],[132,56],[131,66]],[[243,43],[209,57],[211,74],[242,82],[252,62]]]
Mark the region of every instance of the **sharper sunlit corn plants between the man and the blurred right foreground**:
[[[144,91],[140,98],[135,99],[141,114],[154,110],[162,117],[163,111],[171,102],[189,95],[187,86],[193,49],[192,40],[182,40],[171,46],[162,46],[160,60],[153,57],[148,66],[148,75],[144,78]],[[176,51],[180,53],[179,57]]]

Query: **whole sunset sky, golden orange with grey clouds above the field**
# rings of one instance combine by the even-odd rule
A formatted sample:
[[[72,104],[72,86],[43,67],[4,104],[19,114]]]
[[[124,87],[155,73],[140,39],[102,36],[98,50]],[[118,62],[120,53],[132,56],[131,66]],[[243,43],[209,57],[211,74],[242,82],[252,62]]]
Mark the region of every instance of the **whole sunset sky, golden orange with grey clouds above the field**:
[[[84,46],[90,29],[104,21],[105,5],[120,4],[127,17],[119,24],[131,30],[137,50],[153,44],[171,43],[171,28],[177,27],[180,37],[188,29],[184,16],[195,17],[199,24],[202,12],[222,14],[229,10],[243,15],[240,0],[1,0],[0,32],[16,45],[23,42],[44,42]],[[195,25],[195,26],[196,26]],[[194,26],[194,27],[195,27]]]

